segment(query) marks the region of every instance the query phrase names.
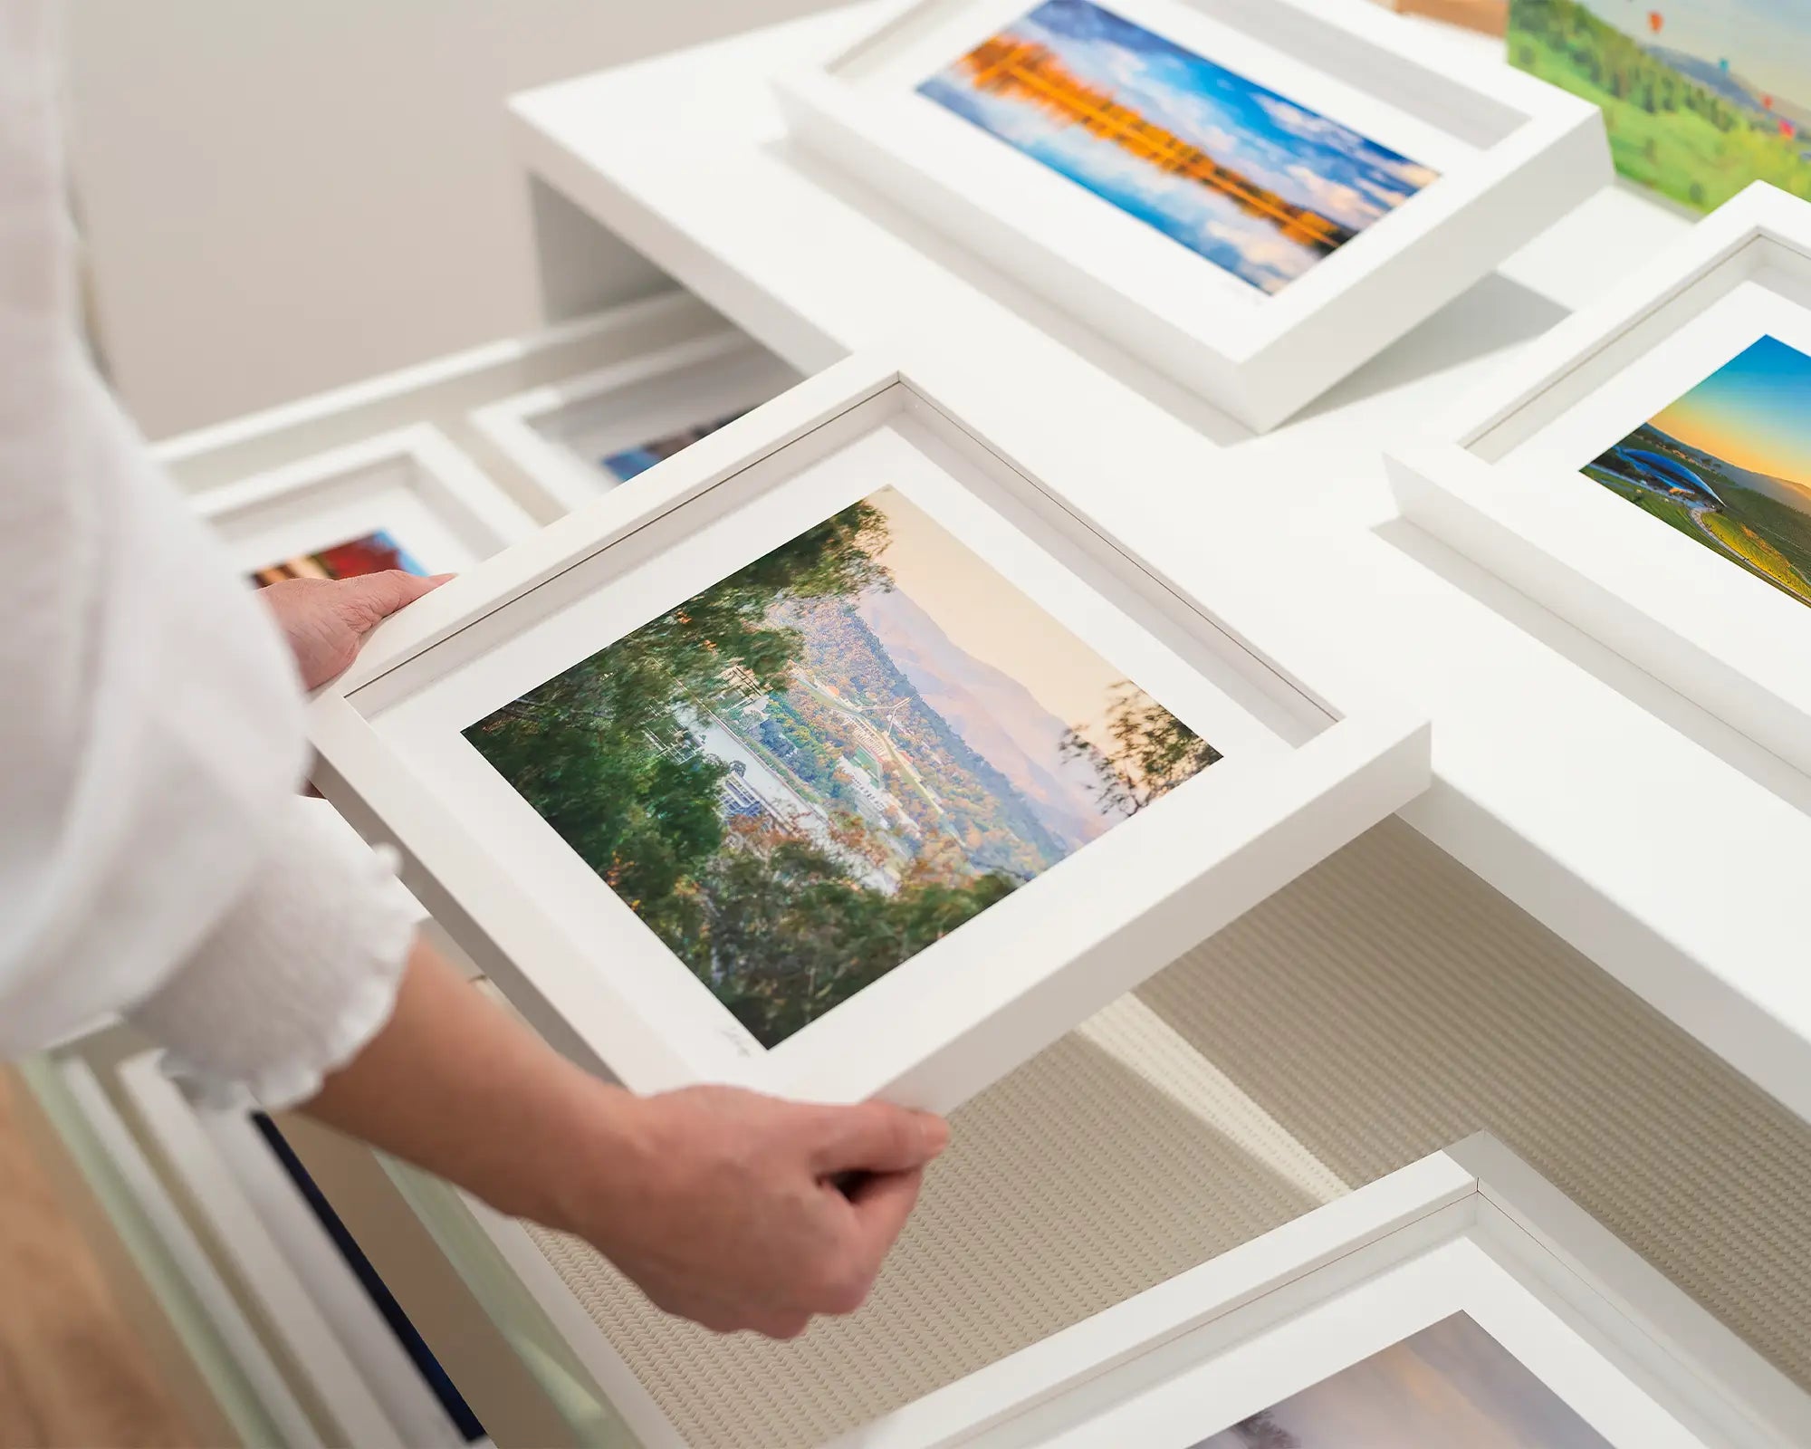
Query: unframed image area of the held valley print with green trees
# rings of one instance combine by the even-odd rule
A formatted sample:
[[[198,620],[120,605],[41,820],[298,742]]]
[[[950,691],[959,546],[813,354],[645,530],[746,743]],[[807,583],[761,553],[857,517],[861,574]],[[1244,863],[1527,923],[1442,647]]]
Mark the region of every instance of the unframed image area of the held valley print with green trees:
[[[891,487],[464,734],[764,1047],[1219,759]]]

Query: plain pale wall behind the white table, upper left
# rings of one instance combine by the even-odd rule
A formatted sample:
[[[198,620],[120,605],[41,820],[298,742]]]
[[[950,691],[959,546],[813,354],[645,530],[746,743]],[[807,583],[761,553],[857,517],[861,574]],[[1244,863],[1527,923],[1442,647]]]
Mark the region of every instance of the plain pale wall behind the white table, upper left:
[[[71,168],[152,437],[541,317],[511,91],[824,0],[67,0]],[[657,273],[598,259],[598,302]]]

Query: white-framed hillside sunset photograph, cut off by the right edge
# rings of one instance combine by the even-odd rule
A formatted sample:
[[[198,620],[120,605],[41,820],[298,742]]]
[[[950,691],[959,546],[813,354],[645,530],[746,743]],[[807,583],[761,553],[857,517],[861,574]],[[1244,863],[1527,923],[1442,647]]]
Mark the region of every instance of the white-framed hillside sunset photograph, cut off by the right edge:
[[[1404,513],[1811,772],[1811,203],[1755,185],[1391,458]]]

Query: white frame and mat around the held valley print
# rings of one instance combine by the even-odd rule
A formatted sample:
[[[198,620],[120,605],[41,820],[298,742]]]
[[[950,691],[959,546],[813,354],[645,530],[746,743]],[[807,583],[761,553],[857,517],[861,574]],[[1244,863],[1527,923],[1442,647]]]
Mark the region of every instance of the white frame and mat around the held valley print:
[[[1250,551],[1203,542],[1203,601],[1088,525],[1072,500],[1112,476],[1110,440],[1001,391],[989,359],[849,359],[382,625],[313,703],[317,784],[543,1034],[625,1085],[951,1110],[1427,786],[1425,717]],[[762,1051],[460,732],[907,478],[1226,757]]]

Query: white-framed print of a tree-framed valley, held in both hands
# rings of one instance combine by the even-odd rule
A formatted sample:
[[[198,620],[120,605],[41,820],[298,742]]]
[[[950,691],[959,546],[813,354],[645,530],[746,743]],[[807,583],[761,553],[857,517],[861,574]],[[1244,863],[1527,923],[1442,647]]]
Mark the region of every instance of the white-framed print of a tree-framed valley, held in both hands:
[[[1231,540],[1197,601],[1088,525],[1050,411],[831,368],[375,636],[317,782],[627,1085],[954,1107],[1427,782]]]

